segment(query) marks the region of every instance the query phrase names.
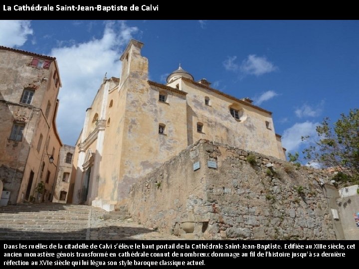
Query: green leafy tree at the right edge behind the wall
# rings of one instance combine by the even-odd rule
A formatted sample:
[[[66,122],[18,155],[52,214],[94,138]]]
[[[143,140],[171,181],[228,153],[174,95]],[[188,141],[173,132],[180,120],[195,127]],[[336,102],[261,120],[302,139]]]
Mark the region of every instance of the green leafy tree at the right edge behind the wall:
[[[304,158],[322,167],[333,167],[338,172],[335,179],[342,183],[358,184],[359,109],[350,110],[348,115],[342,113],[333,127],[330,119],[325,118],[316,131],[318,136],[304,149]],[[313,137],[302,137],[302,140],[309,138]]]

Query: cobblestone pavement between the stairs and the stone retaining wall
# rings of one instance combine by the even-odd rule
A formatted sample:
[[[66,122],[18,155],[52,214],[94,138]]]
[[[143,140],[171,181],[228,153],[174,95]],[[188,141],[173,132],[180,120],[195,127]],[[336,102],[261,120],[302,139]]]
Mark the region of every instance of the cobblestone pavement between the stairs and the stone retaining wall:
[[[104,210],[92,207],[89,240],[179,240],[127,220],[107,219]]]

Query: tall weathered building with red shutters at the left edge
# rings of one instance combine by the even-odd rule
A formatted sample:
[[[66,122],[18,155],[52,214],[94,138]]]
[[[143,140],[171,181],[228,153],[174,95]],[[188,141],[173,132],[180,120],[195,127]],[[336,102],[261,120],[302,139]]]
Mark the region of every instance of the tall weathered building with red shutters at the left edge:
[[[0,180],[8,203],[52,200],[60,86],[55,58],[0,46]]]

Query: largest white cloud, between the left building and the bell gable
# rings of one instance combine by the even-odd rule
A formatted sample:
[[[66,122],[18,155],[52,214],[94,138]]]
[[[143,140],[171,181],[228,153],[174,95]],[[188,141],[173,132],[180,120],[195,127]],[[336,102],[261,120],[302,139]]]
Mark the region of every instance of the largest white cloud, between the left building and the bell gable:
[[[137,27],[129,27],[123,21],[108,22],[101,39],[52,49],[63,85],[56,121],[64,143],[75,143],[85,111],[91,106],[105,73],[108,78],[120,76],[121,53],[137,31]]]

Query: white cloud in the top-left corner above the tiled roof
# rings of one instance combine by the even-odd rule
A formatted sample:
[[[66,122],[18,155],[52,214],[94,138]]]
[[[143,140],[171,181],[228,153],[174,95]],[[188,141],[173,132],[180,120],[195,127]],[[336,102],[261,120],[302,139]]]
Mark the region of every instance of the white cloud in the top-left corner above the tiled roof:
[[[29,20],[0,20],[0,45],[21,47],[33,33]]]

